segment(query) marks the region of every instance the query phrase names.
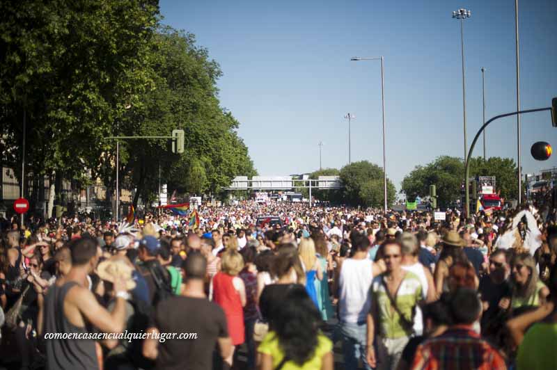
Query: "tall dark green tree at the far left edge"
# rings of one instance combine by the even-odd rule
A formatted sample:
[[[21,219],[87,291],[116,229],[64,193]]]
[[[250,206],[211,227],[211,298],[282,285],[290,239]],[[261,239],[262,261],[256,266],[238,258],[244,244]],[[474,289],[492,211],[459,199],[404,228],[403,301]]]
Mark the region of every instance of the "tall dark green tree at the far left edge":
[[[3,165],[21,164],[25,115],[29,171],[94,178],[111,161],[104,136],[149,84],[158,1],[1,1],[0,13]]]

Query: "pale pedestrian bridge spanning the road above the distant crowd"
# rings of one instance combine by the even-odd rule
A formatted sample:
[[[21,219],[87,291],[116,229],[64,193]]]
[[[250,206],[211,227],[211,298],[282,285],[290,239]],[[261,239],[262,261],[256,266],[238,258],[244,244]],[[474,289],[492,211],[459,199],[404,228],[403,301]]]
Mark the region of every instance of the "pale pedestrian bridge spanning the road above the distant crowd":
[[[247,176],[235,177],[225,190],[292,190],[294,188],[314,188],[334,190],[343,187],[339,176],[320,176],[308,179],[302,176]]]

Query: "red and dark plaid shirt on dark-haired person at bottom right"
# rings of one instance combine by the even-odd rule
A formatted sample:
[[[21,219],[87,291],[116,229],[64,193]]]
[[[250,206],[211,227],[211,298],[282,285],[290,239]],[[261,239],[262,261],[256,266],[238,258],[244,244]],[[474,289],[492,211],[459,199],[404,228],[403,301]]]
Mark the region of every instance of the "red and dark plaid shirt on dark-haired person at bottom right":
[[[455,325],[418,346],[413,370],[506,370],[503,355],[469,325]]]

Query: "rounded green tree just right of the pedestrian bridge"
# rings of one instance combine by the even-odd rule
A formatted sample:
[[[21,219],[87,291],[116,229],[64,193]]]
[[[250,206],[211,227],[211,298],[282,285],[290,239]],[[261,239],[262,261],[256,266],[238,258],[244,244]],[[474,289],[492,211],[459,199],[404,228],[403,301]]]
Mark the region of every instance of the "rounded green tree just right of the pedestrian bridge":
[[[359,161],[340,170],[343,182],[343,200],[348,204],[382,207],[384,204],[383,170],[368,161]],[[393,204],[396,190],[387,179],[387,204]]]

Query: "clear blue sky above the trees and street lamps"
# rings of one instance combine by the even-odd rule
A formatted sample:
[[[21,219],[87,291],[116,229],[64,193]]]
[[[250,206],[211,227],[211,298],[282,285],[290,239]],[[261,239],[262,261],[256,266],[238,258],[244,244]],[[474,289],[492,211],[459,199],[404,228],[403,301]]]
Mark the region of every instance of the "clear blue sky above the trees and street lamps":
[[[260,175],[288,175],[348,161],[382,166],[381,70],[385,60],[386,168],[400,190],[414,166],[440,155],[463,156],[460,26],[464,21],[468,145],[486,119],[516,109],[515,7],[492,1],[160,1],[164,24],[196,35],[221,65],[221,105],[240,121],[239,134]],[[557,1],[519,1],[521,108],[542,108],[557,96]],[[548,112],[524,115],[522,166],[531,145],[557,147]],[[481,143],[481,142],[480,142]],[[487,129],[487,155],[517,158],[516,118]],[[475,154],[483,154],[476,145]]]

